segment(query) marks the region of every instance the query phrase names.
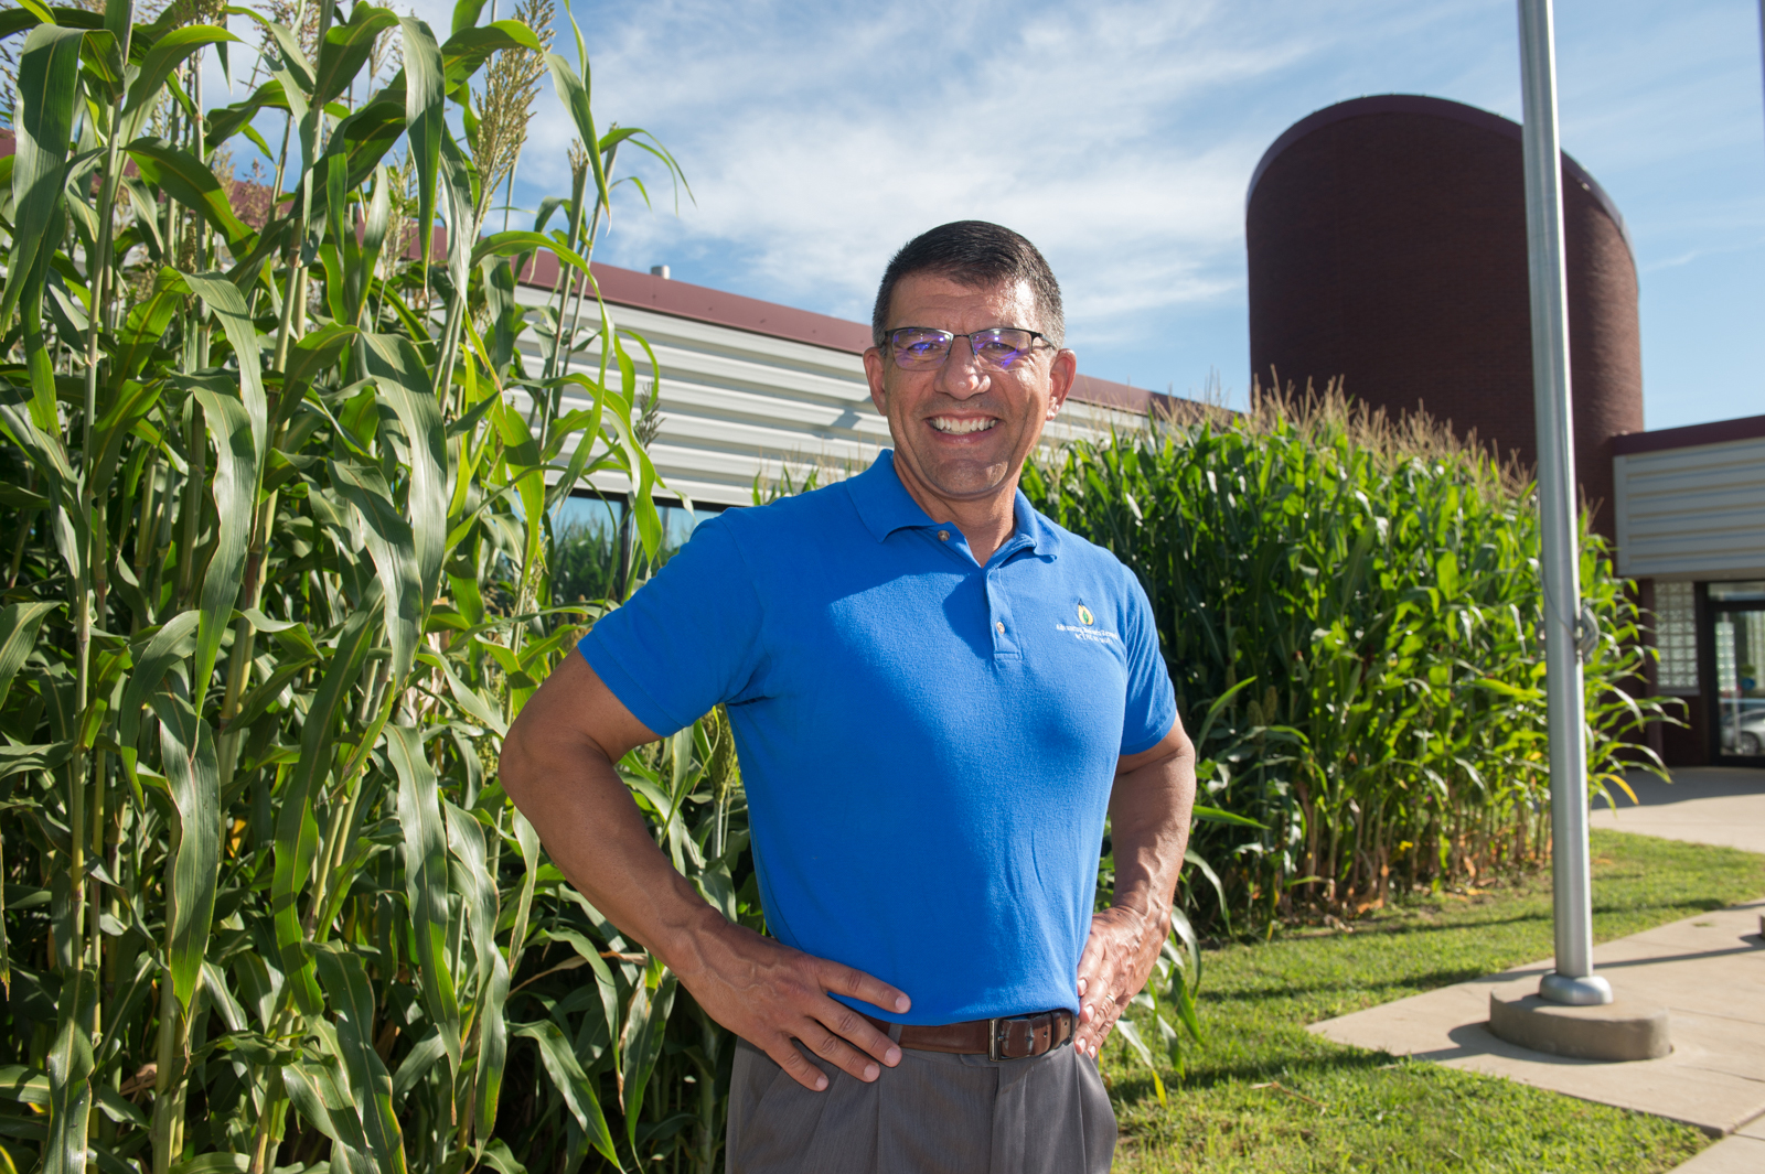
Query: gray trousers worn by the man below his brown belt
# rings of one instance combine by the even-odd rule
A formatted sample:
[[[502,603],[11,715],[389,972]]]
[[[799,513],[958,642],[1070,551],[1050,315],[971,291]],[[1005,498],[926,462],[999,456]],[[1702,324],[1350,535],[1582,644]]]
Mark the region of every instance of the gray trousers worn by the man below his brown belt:
[[[817,1061],[812,1093],[747,1040],[729,1089],[729,1174],[1105,1174],[1115,1112],[1071,1045],[990,1061],[902,1049],[874,1084]]]

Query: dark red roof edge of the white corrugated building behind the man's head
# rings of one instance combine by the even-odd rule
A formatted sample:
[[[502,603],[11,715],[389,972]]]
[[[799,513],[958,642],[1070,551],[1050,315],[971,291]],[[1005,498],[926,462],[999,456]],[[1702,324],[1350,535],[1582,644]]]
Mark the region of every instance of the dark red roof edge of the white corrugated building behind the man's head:
[[[796,310],[775,301],[743,298],[741,294],[724,293],[722,289],[710,289],[706,286],[678,282],[667,277],[639,273],[637,270],[623,270],[616,264],[602,264],[598,261],[591,261],[590,270],[595,273],[595,282],[600,286],[600,296],[611,305],[655,310],[657,314],[685,317],[695,323],[710,323],[713,326],[729,326],[732,330],[747,330],[771,338],[807,342],[810,346],[828,347],[830,351],[842,351],[845,354],[863,354],[870,347],[870,326],[863,323],[851,323],[844,317],[814,314],[810,310]],[[551,252],[537,254],[521,271],[522,286],[552,289],[556,282],[558,257]],[[1170,395],[1147,391],[1145,388],[1131,388],[1124,383],[1098,379],[1096,375],[1078,375],[1078,381],[1073,384],[1071,398],[1084,404],[1096,404],[1100,407],[1115,407],[1137,412],[1140,416],[1147,416],[1153,411],[1163,411],[1168,414],[1175,411],[1174,405],[1183,404],[1183,400]]]

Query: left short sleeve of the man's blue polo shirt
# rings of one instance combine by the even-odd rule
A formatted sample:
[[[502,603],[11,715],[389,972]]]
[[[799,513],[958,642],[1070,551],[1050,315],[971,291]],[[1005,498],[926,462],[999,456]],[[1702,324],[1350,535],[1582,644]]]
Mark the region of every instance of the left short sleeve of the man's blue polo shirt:
[[[750,689],[761,615],[729,525],[711,518],[577,649],[637,721],[667,737]]]

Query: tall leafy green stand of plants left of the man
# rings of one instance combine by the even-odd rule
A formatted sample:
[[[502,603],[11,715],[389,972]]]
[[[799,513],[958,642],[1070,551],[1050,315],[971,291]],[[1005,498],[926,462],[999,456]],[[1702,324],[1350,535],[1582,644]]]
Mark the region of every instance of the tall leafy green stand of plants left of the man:
[[[623,472],[658,554],[644,344],[588,257],[621,146],[680,171],[597,130],[581,35],[478,9],[0,12],[7,1169],[715,1165],[727,1038],[494,777],[604,606],[554,598],[563,497]],[[214,106],[203,56],[252,51],[222,12],[258,63]],[[545,72],[574,189],[484,234]],[[727,723],[621,770],[757,924]]]

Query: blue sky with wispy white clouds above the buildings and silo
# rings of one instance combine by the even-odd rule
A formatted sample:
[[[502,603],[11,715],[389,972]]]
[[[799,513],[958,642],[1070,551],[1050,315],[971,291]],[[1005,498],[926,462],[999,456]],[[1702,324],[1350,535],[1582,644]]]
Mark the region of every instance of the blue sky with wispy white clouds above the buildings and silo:
[[[1513,0],[575,14],[597,118],[655,132],[695,196],[676,217],[665,185],[655,212],[632,194],[598,259],[867,319],[909,236],[999,220],[1059,273],[1084,370],[1179,395],[1216,370],[1236,402],[1250,379],[1244,185],[1264,148],[1363,93],[1520,118]],[[1758,21],[1754,0],[1557,5],[1564,148],[1636,243],[1650,428],[1765,412]],[[547,95],[517,203],[567,187],[570,134]]]

